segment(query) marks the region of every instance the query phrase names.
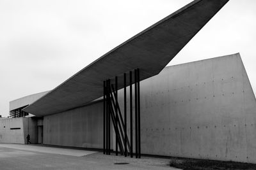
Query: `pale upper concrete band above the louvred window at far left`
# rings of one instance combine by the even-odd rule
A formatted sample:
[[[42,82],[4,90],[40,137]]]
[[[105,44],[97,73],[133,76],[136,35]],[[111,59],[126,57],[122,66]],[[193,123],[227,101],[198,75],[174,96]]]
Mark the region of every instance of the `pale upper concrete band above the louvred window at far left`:
[[[21,97],[19,99],[10,101],[10,111],[35,102],[37,99],[47,94],[47,92],[49,91],[31,94],[29,96]]]

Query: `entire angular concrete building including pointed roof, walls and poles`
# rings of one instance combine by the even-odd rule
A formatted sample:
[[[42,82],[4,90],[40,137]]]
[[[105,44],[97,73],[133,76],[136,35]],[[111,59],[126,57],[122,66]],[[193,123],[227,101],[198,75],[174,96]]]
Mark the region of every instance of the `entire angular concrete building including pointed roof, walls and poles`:
[[[165,67],[227,2],[193,1],[50,92],[11,102],[20,118],[0,120],[0,142],[30,134],[106,154],[256,163],[256,101],[239,53]]]

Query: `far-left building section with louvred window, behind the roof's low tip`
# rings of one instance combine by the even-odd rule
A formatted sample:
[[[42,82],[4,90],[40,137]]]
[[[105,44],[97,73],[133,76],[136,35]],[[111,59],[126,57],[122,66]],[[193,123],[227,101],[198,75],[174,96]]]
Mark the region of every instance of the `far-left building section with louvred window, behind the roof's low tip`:
[[[40,99],[47,92],[10,101],[10,118],[0,118],[0,143],[24,144],[28,134],[31,136],[32,143],[43,143],[42,119],[22,111],[22,108]]]

